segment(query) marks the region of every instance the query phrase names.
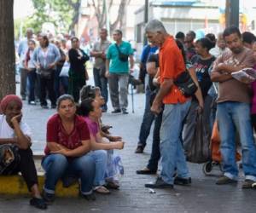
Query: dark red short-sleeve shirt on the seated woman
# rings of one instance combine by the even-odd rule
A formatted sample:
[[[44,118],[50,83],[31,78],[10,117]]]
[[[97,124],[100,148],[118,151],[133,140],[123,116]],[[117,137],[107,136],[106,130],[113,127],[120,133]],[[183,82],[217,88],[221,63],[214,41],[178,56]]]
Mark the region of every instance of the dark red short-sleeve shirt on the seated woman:
[[[59,114],[53,115],[49,118],[47,123],[47,142],[55,142],[61,144],[68,149],[75,149],[82,146],[82,141],[90,140],[90,131],[84,118],[76,115],[74,118],[73,131],[67,134],[61,123]],[[45,154],[49,154],[49,148],[46,146],[44,149]]]

